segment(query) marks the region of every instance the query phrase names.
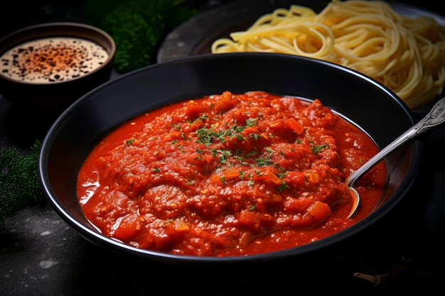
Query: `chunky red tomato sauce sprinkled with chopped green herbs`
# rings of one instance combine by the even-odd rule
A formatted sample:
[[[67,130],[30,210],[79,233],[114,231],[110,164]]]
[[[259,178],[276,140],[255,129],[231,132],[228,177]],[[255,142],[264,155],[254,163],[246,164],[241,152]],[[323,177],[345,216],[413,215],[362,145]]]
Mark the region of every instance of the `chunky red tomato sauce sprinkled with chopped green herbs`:
[[[385,163],[357,126],[316,99],[224,92],[164,106],[109,133],[82,166],[77,194],[102,234],[136,248],[240,256],[323,239],[377,204]]]

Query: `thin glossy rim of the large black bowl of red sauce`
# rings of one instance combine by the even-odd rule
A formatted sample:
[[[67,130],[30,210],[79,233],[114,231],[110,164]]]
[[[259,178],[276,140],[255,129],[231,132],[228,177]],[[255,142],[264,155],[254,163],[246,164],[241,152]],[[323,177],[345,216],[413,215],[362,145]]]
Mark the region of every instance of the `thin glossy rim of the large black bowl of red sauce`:
[[[68,107],[68,109],[65,109],[63,114],[61,114],[58,119],[55,121],[53,126],[49,129],[48,133],[46,134],[45,138],[43,139],[42,146],[41,146],[41,153],[39,153],[38,158],[38,175],[39,175],[39,182],[41,182],[41,187],[45,191],[45,194],[48,197],[48,200],[50,201],[50,204],[53,206],[56,212],[68,223],[70,226],[72,226],[74,229],[77,230],[79,234],[81,234],[82,237],[84,237],[87,241],[90,241],[98,246],[109,248],[111,251],[119,251],[123,253],[130,253],[134,254],[139,257],[143,258],[149,258],[154,259],[156,261],[163,261],[164,263],[186,263],[186,264],[221,264],[221,263],[258,263],[258,262],[265,262],[265,261],[275,261],[280,260],[284,258],[289,258],[291,256],[301,256],[305,255],[307,253],[311,253],[313,251],[317,251],[321,248],[326,248],[327,246],[332,246],[335,243],[338,243],[339,241],[343,241],[344,239],[350,238],[350,236],[353,236],[355,234],[358,234],[363,229],[366,229],[370,226],[369,221],[373,221],[372,223],[375,223],[378,219],[380,219],[382,216],[385,216],[390,210],[395,207],[402,197],[408,192],[410,187],[412,186],[412,181],[415,180],[417,177],[417,172],[419,171],[419,167],[421,164],[421,158],[419,157],[413,157],[412,163],[409,166],[409,170],[407,172],[407,177],[404,178],[402,181],[402,184],[399,188],[395,191],[393,195],[395,195],[396,199],[392,203],[385,202],[382,204],[381,207],[379,207],[374,212],[370,213],[368,216],[366,216],[363,220],[360,220],[359,223],[353,224],[352,226],[349,226],[347,229],[343,229],[341,231],[341,234],[334,235],[334,236],[328,236],[326,239],[321,239],[319,241],[314,241],[313,243],[308,243],[302,246],[297,246],[296,248],[289,248],[282,251],[274,251],[270,253],[260,253],[250,256],[225,256],[225,257],[211,257],[211,256],[183,256],[183,255],[173,255],[169,253],[163,253],[160,251],[150,251],[146,249],[141,248],[134,248],[132,246],[127,245],[126,243],[120,243],[119,241],[115,241],[114,239],[111,239],[107,236],[104,236],[103,234],[100,234],[98,231],[94,231],[79,221],[77,221],[71,214],[65,209],[65,206],[62,202],[60,202],[60,199],[56,196],[55,192],[53,192],[53,188],[49,181],[48,172],[46,170],[46,166],[48,165],[48,157],[50,155],[51,146],[53,145],[53,142],[55,141],[55,138],[53,138],[53,133],[57,133],[58,128],[60,128],[60,125],[63,124],[63,121],[70,116],[73,109],[76,109],[78,105],[82,104],[82,102],[85,102],[90,97],[94,96],[95,93],[100,92],[102,89],[109,86],[109,84],[119,83],[122,80],[131,79],[131,77],[135,75],[139,75],[141,72],[144,71],[152,71],[156,70],[158,67],[166,67],[168,65],[174,65],[174,64],[181,64],[181,63],[188,63],[193,62],[196,60],[205,61],[207,59],[213,59],[213,58],[225,58],[230,57],[231,55],[238,55],[238,56],[259,56],[259,55],[276,55],[289,58],[289,59],[301,59],[301,60],[313,60],[318,64],[322,65],[328,65],[329,67],[339,68],[343,72],[348,72],[348,75],[353,75],[355,77],[360,77],[362,80],[366,80],[367,82],[370,82],[371,84],[374,84],[377,86],[380,90],[386,92],[389,97],[391,97],[395,102],[402,108],[402,110],[406,113],[406,115],[409,117],[409,121],[411,124],[414,123],[414,119],[412,116],[411,110],[407,107],[404,102],[402,102],[402,99],[397,97],[393,92],[391,92],[387,87],[383,86],[382,84],[376,82],[375,80],[372,80],[372,78],[363,75],[360,72],[357,72],[355,70],[350,70],[348,68],[345,68],[340,65],[333,64],[331,62],[326,62],[322,60],[315,60],[310,57],[299,57],[299,56],[292,56],[292,55],[282,55],[277,53],[225,53],[221,55],[213,55],[213,54],[204,54],[204,55],[194,55],[189,57],[182,57],[177,60],[171,60],[169,62],[163,62],[159,64],[149,65],[147,67],[143,67],[139,70],[134,70],[132,72],[129,72],[127,74],[121,75],[120,77],[117,77],[114,80],[111,80],[109,82],[106,82],[99,87],[93,89],[92,91],[88,92],[84,96],[82,96],[80,99],[77,100],[74,104]],[[144,110],[141,110],[140,113],[144,112]],[[131,116],[130,116],[131,117]],[[119,125],[119,124],[117,124]],[[115,126],[114,126],[115,127]],[[103,135],[98,135],[99,138],[102,138]],[[411,143],[409,143],[408,148],[412,149],[412,155],[420,155],[422,152],[422,142],[419,140],[414,140]],[[371,223],[371,224],[372,224]],[[117,249],[116,249],[117,247]]]

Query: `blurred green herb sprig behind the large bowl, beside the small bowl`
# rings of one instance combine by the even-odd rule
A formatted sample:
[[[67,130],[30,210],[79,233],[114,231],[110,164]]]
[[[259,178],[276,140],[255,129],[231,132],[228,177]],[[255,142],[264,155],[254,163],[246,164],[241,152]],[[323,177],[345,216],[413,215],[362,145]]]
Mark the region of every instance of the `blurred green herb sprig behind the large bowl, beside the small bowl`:
[[[156,62],[166,34],[195,16],[187,0],[89,0],[85,16],[116,43],[114,66],[125,73]]]

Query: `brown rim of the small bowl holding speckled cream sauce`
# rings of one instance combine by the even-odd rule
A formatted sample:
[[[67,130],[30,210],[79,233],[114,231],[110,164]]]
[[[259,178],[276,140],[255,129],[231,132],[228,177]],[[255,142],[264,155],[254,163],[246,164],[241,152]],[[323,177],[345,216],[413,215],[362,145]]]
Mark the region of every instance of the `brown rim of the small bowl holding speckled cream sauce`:
[[[24,28],[20,28],[16,31],[4,35],[2,38],[0,38],[0,57],[4,53],[6,53],[6,51],[14,48],[14,46],[26,43],[31,40],[38,40],[48,37],[72,37],[89,40],[100,45],[108,53],[107,60],[105,60],[99,67],[96,67],[94,70],[88,72],[88,75],[83,75],[70,80],[51,82],[49,83],[50,85],[67,84],[69,82],[77,81],[85,76],[95,74],[105,67],[109,67],[109,64],[113,61],[114,55],[116,54],[117,50],[117,45],[114,41],[114,38],[112,38],[109,33],[102,30],[101,28],[97,28],[96,26],[92,26],[87,23],[50,22],[26,26]],[[28,82],[15,80],[6,75],[3,75],[1,72],[0,79],[6,80],[10,83],[21,85],[48,85],[48,82]]]

